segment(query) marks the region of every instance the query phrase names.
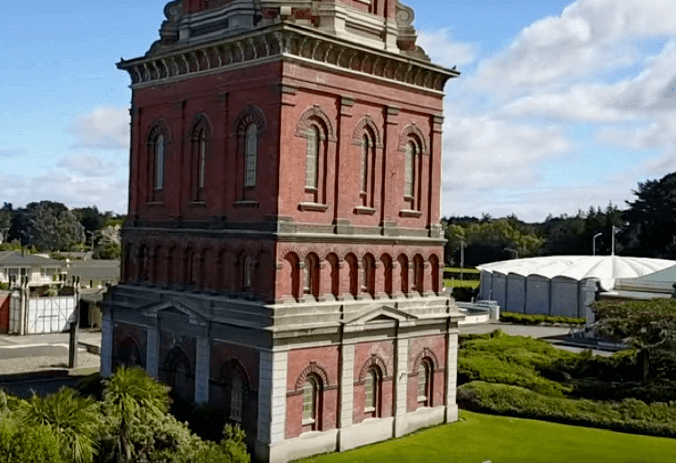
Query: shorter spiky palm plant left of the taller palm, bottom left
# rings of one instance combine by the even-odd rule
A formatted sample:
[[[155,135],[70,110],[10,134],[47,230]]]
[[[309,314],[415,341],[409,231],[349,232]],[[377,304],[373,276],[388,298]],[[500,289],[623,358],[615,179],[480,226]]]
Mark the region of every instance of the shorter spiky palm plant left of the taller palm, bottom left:
[[[99,405],[73,389],[64,387],[47,397],[33,395],[20,405],[17,416],[22,426],[50,428],[59,437],[67,461],[92,463],[98,454]]]

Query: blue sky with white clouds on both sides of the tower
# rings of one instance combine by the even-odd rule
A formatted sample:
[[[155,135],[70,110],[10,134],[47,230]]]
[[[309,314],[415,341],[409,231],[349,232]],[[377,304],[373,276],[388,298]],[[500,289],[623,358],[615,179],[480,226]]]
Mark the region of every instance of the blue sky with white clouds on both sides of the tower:
[[[540,221],[676,171],[675,0],[409,0],[446,87],[444,215]],[[126,211],[128,76],[164,0],[0,0],[0,201]]]

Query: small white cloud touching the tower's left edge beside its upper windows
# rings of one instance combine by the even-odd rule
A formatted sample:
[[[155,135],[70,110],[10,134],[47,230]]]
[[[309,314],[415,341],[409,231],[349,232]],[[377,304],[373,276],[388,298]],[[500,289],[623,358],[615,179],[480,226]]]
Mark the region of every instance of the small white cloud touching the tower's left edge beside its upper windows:
[[[98,106],[72,123],[76,148],[126,150],[129,146],[129,113],[127,108]]]

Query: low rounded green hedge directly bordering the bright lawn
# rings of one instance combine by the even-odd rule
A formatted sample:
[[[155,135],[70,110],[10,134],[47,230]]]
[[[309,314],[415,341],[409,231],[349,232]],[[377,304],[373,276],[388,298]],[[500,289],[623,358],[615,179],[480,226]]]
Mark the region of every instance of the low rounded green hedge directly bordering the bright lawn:
[[[676,437],[676,402],[546,397],[522,387],[473,381],[458,388],[458,404],[478,412]]]

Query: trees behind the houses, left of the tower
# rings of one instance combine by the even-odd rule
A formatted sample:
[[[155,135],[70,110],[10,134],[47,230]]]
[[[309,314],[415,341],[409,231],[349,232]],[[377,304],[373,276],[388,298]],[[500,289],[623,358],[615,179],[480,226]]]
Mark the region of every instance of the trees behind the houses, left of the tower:
[[[94,259],[119,259],[120,231],[126,216],[101,212],[97,206],[68,208],[43,200],[0,208],[0,250],[28,248],[31,252],[92,250]]]

